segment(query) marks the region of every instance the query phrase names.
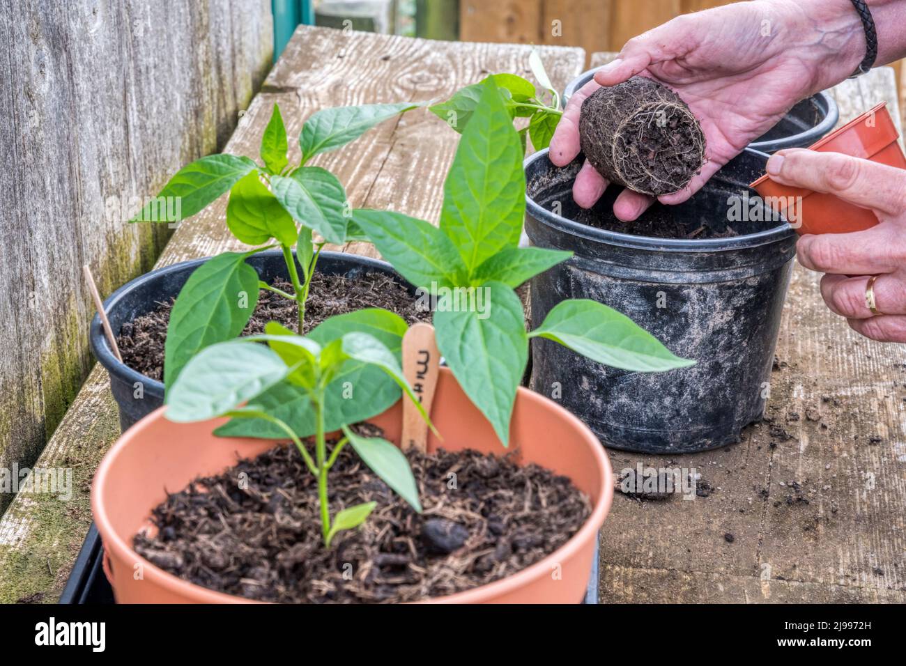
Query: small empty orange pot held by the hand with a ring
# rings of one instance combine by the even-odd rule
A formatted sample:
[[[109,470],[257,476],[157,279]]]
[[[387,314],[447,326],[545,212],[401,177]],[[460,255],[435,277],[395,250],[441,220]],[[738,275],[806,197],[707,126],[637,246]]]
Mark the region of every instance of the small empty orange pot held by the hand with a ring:
[[[906,169],[906,155],[903,155],[897,141],[899,137],[900,133],[887,111],[887,102],[882,101],[871,111],[809,146],[809,150],[840,152]],[[776,198],[779,202],[777,208],[785,214],[790,205],[795,205],[796,214],[786,217],[799,234],[845,234],[878,224],[878,218],[871,210],[843,201],[833,194],[790,188],[776,183],[767,175],[757,179],[750,187],[762,198]]]

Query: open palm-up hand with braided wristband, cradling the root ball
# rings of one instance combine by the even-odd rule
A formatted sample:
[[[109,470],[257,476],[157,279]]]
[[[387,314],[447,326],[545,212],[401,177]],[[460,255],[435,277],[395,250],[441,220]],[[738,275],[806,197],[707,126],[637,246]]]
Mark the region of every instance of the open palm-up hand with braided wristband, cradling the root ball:
[[[761,0],[678,16],[631,39],[593,82],[573,94],[551,141],[550,159],[563,167],[579,154],[579,112],[590,94],[636,74],[651,76],[689,104],[707,141],[708,161],[689,186],[658,198],[682,203],[795,102],[853,72],[864,53],[862,30],[852,4],[825,0]],[[591,208],[607,185],[586,161],[573,198]],[[653,202],[624,190],[613,212],[633,220]]]

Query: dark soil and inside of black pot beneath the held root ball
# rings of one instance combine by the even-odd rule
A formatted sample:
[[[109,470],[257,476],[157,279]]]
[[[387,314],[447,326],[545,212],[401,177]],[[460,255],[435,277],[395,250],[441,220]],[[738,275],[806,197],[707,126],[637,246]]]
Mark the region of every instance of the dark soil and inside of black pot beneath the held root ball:
[[[728,197],[739,190],[725,189],[715,185],[714,189],[699,190],[695,196],[679,206],[664,206],[655,203],[641,216],[631,222],[624,222],[613,215],[613,202],[622,192],[618,186],[604,190],[602,198],[593,208],[580,208],[573,200],[573,181],[582,167],[582,156],[563,169],[551,169],[533,177],[528,182],[528,196],[542,208],[560,217],[571,219],[589,227],[615,231],[632,236],[652,238],[728,238],[748,234],[761,228],[776,227],[779,222],[743,222],[741,225],[728,221]],[[717,183],[715,179],[711,183]],[[757,193],[752,190],[752,196]],[[737,227],[739,227],[737,229]]]

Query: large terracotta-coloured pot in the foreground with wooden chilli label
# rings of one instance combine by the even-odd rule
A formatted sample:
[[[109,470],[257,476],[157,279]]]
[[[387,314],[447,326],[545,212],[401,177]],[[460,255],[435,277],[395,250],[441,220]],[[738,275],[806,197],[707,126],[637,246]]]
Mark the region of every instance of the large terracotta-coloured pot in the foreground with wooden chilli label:
[[[400,402],[371,419],[385,437],[399,443]],[[613,474],[601,443],[582,421],[545,397],[520,388],[511,425],[510,449],[496,439],[490,424],[441,369],[431,419],[443,441],[433,435],[429,450],[477,449],[504,454],[516,450],[519,462],[537,463],[567,476],[592,502],[592,514],[565,545],[522,571],[472,590],[427,600],[432,603],[578,603],[592,571],[598,530],[610,511]],[[132,549],[132,538],[149,525],[151,509],[198,476],[213,475],[253,458],[275,443],[261,439],[223,439],[213,430],[224,419],[177,424],[164,408],[140,420],[101,461],[92,484],[92,510],[105,551],[105,573],[119,603],[242,603],[248,600],[190,584],[150,564]],[[142,575],[136,580],[136,565]],[[559,565],[559,579],[552,567]]]

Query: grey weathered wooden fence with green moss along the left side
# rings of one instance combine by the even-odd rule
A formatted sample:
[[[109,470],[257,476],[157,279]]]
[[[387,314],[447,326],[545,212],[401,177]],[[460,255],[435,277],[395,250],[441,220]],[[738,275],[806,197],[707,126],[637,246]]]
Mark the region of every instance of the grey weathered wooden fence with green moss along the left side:
[[[125,224],[130,198],[223,145],[271,33],[267,0],[0,5],[0,468],[34,462],[91,368],[82,264],[108,293],[152,265],[168,231]]]

